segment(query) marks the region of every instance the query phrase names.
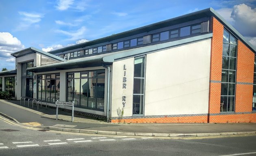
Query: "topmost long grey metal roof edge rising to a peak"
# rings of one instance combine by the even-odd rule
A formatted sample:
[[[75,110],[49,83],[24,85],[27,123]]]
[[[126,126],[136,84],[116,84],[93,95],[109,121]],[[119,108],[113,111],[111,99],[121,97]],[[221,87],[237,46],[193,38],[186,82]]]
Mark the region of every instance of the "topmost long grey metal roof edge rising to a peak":
[[[241,35],[233,26],[231,26],[228,22],[226,22],[226,20],[224,20],[223,17],[221,17],[221,15],[219,15],[219,13],[217,13],[213,8],[208,8],[208,9],[204,9],[204,10],[201,10],[201,11],[196,11],[196,12],[193,12],[193,13],[189,13],[189,14],[186,14],[186,15],[179,16],[179,17],[171,18],[169,20],[164,20],[164,21],[161,21],[161,22],[157,22],[157,23],[154,23],[154,24],[147,25],[147,26],[142,26],[142,27],[139,27],[139,28],[135,28],[135,29],[132,29],[132,30],[125,31],[125,32],[121,32],[121,33],[118,33],[118,34],[115,34],[115,35],[103,37],[103,38],[100,38],[100,39],[95,39],[95,40],[92,40],[92,41],[87,41],[85,43],[80,43],[80,44],[68,46],[68,47],[65,47],[65,48],[52,50],[52,51],[50,51],[50,53],[51,54],[56,54],[56,53],[65,52],[65,51],[68,51],[68,50],[84,48],[86,46],[95,45],[95,44],[98,44],[98,43],[109,42],[109,41],[113,41],[115,39],[129,37],[129,36],[140,34],[140,33],[143,33],[143,32],[149,32],[151,30],[164,28],[164,27],[167,27],[167,26],[172,26],[172,25],[183,23],[183,22],[189,22],[189,21],[192,21],[192,20],[196,20],[196,19],[203,18],[203,17],[210,17],[210,16],[216,17],[219,20],[219,22],[221,22],[221,24],[223,24],[226,28],[228,28],[228,30],[230,30],[236,37],[238,37],[243,43],[245,43],[245,45],[247,45],[248,48],[250,48],[254,53],[256,53],[256,49],[254,48],[254,46],[251,43],[249,43],[249,41],[247,41],[243,37],[243,35]]]

